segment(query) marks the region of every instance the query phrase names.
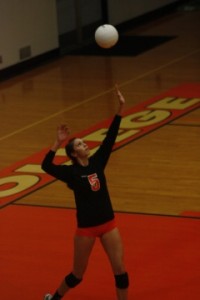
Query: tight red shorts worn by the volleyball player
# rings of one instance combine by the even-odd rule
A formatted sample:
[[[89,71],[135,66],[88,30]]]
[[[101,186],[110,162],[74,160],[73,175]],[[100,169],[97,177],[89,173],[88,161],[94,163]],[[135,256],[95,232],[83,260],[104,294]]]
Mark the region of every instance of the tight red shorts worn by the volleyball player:
[[[115,219],[98,226],[85,227],[85,228],[78,227],[76,229],[76,235],[89,236],[89,237],[101,237],[102,235],[111,231],[114,228],[116,228]]]

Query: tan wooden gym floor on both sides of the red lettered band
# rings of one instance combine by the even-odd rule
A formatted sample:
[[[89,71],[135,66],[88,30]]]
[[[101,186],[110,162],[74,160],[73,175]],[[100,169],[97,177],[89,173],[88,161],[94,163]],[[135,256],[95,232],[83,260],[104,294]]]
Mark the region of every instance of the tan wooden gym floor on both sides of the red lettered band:
[[[111,118],[116,82],[127,110],[176,86],[200,85],[199,28],[200,11],[177,11],[127,30],[176,36],[141,55],[66,55],[0,83],[0,169],[50,146],[60,123],[79,133]],[[106,172],[114,209],[200,217],[199,146],[197,108],[113,152]],[[15,204],[74,207],[71,192],[58,181]]]

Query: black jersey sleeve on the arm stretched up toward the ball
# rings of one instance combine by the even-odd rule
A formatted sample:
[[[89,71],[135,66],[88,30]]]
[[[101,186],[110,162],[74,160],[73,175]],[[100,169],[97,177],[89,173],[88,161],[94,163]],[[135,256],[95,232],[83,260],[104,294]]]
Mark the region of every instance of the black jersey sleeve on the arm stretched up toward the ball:
[[[112,152],[112,148],[118,134],[120,122],[121,116],[116,115],[108,128],[106,137],[104,138],[102,144],[100,145],[96,153],[93,155],[93,159],[100,162],[103,168],[105,168],[110,154]]]

